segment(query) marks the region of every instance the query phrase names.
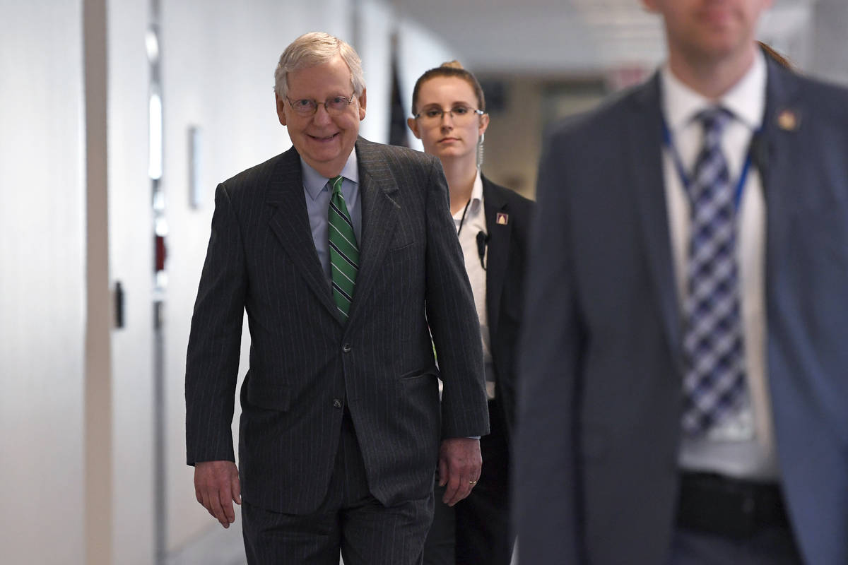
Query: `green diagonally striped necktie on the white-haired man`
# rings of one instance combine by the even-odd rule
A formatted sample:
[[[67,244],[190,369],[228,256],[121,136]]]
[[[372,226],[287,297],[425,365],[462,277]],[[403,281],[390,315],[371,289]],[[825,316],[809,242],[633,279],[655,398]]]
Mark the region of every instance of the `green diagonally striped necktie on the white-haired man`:
[[[348,206],[342,196],[343,177],[329,180],[332,196],[328,218],[330,221],[330,271],[332,299],[338,311],[348,318],[350,303],[354,300],[356,273],[360,267],[360,248],[356,245],[354,224],[350,221]]]

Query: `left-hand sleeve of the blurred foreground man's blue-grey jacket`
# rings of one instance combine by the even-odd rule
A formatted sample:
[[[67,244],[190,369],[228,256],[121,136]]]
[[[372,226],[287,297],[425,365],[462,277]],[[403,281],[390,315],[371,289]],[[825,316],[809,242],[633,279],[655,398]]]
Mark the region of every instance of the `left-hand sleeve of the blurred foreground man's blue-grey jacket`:
[[[583,347],[570,243],[566,147],[548,144],[538,177],[516,418],[516,524],[521,562],[579,563],[574,456]]]

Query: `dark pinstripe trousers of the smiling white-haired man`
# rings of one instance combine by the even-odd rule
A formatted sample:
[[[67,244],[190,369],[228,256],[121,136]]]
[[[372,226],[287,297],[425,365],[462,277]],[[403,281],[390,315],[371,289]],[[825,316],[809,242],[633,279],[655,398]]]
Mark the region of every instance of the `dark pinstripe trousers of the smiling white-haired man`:
[[[432,522],[432,495],[384,507],[368,489],[353,421],[345,410],[326,498],[298,516],[243,502],[250,565],[420,565]]]

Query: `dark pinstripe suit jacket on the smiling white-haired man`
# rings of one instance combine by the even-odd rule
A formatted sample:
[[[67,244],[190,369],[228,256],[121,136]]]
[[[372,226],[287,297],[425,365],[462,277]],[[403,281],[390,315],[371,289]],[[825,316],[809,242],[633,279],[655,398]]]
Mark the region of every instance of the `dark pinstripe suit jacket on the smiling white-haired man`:
[[[355,150],[362,241],[347,324],[315,252],[294,148],[215,194],[188,345],[187,460],[233,460],[246,310],[242,492],[278,512],[323,500],[344,406],[371,493],[387,505],[432,491],[440,438],[488,433],[477,313],[438,159],[362,138]]]

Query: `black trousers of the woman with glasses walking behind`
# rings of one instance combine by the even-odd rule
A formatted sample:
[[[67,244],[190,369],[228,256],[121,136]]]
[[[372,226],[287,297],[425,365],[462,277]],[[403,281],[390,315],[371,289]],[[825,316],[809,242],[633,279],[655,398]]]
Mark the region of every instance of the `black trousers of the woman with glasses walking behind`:
[[[489,435],[480,438],[483,470],[471,494],[454,507],[435,487],[436,510],[424,546],[424,565],[509,565],[515,535],[510,528],[510,450],[502,411],[489,401]]]

